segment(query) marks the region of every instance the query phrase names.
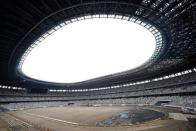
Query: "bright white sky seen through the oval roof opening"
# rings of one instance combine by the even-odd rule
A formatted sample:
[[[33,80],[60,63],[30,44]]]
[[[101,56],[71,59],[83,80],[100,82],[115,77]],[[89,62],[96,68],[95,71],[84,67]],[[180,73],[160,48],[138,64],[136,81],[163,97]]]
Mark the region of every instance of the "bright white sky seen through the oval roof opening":
[[[144,64],[154,53],[153,34],[136,23],[94,18],[71,23],[40,42],[22,65],[34,79],[77,83]]]

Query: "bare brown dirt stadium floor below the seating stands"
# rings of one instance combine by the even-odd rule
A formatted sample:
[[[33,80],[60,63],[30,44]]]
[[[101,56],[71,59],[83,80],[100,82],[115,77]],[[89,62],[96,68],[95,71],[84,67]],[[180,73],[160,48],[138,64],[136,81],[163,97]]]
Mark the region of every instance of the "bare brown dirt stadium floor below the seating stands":
[[[101,106],[101,107],[49,107],[14,112],[1,113],[9,119],[15,119],[22,123],[25,128],[19,130],[45,130],[45,131],[195,131],[191,123],[185,120],[174,120],[169,118],[167,112],[163,112],[164,117],[158,119],[152,117],[152,110],[143,110],[141,107],[130,106]],[[146,108],[144,108],[146,109]],[[130,116],[140,123],[132,125],[118,124],[117,126],[97,126],[96,123],[114,118],[119,113],[130,111]],[[131,114],[131,111],[134,113]],[[146,113],[146,114],[142,114]],[[150,114],[150,115],[149,115]],[[136,117],[138,116],[138,117]],[[149,121],[142,121],[143,118]],[[141,119],[140,119],[141,118]],[[119,122],[119,121],[118,121]],[[6,123],[1,121],[0,126],[5,129]],[[0,127],[1,129],[1,127]]]

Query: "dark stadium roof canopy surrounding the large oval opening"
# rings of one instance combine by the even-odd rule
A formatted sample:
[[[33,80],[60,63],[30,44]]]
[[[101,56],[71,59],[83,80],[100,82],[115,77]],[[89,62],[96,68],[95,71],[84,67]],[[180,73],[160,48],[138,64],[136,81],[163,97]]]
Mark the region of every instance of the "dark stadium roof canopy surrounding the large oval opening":
[[[193,68],[196,66],[195,7],[195,0],[2,0],[0,83],[23,87],[96,88]],[[147,23],[155,35],[156,29],[159,30],[162,38],[157,34],[157,42],[162,43],[153,58],[137,69],[77,84],[53,84],[18,75],[17,67],[25,51],[45,32],[63,21],[103,14],[129,17],[138,24]]]

